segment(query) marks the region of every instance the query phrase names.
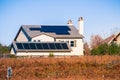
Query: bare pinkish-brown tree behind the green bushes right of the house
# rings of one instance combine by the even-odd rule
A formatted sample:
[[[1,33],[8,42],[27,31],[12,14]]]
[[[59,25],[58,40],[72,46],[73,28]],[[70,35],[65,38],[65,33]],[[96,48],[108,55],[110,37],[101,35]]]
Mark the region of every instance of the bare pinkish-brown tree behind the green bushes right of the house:
[[[103,38],[100,35],[92,35],[91,36],[91,42],[90,42],[90,47],[96,48],[98,47],[100,44],[102,44]]]

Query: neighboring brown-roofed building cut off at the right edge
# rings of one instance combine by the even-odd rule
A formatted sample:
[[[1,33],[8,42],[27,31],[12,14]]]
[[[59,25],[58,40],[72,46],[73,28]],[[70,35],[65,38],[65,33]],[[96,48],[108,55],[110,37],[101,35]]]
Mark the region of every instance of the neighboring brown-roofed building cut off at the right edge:
[[[109,36],[103,41],[103,43],[108,43],[108,44],[115,43],[120,45],[120,33]]]

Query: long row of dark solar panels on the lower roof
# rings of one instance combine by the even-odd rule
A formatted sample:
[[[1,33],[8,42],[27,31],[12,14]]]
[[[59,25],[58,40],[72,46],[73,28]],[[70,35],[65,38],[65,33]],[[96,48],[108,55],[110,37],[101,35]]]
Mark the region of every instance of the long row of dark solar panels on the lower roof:
[[[18,50],[69,50],[67,43],[16,43]]]

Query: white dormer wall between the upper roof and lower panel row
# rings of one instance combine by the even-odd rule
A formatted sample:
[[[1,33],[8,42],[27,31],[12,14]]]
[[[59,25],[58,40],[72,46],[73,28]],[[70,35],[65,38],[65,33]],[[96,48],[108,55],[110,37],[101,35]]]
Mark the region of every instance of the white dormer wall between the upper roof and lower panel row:
[[[34,40],[36,40],[36,41],[40,40],[41,42],[53,42],[54,38],[47,36],[47,35],[39,35],[39,36],[32,38],[32,41],[34,41]]]

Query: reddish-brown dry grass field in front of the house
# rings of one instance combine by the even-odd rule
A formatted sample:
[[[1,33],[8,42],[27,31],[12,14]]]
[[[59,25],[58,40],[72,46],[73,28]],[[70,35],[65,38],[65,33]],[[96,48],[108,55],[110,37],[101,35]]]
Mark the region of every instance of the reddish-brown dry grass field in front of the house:
[[[120,56],[1,58],[0,80],[120,80]]]

